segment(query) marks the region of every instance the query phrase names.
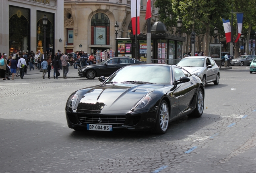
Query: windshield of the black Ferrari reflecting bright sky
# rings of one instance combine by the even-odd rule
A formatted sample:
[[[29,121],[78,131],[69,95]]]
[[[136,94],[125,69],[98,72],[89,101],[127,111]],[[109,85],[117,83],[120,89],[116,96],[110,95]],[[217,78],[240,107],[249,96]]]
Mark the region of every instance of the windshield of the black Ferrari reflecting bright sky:
[[[169,66],[135,65],[125,66],[111,76],[105,83],[153,83],[170,84],[171,70]]]

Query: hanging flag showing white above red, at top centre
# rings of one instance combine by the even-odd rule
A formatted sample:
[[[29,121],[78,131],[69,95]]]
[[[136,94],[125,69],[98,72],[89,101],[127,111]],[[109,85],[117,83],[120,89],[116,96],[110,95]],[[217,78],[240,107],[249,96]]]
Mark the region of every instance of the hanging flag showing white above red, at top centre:
[[[136,1],[137,1],[137,16],[136,16]],[[136,17],[137,17],[137,34],[140,34],[140,0],[131,0],[131,15],[132,15],[132,34],[136,34]]]

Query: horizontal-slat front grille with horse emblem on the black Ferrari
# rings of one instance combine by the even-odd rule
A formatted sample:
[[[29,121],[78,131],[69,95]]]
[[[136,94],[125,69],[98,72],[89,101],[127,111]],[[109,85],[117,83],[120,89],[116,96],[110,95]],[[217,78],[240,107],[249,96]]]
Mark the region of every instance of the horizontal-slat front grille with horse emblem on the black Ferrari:
[[[104,124],[104,125],[113,125],[113,127],[121,127],[122,125],[124,125],[126,117],[125,116],[78,115],[78,119],[83,125]]]

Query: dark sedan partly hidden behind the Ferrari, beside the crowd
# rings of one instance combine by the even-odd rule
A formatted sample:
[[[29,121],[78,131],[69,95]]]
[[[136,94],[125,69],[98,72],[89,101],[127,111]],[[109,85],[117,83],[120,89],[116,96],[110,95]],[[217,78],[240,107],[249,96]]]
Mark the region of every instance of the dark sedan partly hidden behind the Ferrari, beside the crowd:
[[[129,57],[114,57],[109,58],[100,64],[87,65],[79,68],[78,76],[86,77],[88,79],[94,79],[95,77],[99,76],[110,76],[123,66],[145,63],[146,62],[140,62],[134,58]]]

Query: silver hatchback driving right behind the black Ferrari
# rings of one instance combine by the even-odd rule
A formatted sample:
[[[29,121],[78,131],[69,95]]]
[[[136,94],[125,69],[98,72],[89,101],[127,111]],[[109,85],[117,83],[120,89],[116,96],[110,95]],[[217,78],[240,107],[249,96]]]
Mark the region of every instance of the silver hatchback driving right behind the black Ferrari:
[[[211,57],[189,56],[180,60],[176,65],[183,67],[191,74],[199,76],[204,86],[210,82],[215,85],[219,84],[219,66]]]

